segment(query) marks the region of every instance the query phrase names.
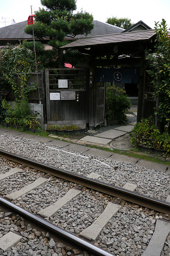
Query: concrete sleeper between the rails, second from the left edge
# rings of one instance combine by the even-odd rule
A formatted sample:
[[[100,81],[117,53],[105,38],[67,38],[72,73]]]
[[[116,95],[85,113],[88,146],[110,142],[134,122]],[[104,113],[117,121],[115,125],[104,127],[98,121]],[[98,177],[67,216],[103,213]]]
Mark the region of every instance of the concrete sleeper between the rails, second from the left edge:
[[[29,184],[28,186],[22,187],[20,190],[17,190],[17,191],[15,191],[13,193],[10,193],[10,194],[8,194],[8,195],[6,195],[4,197],[9,199],[9,200],[15,200],[18,197],[21,197],[22,195],[27,194],[32,189],[42,185],[46,181],[47,181],[46,178],[40,177],[36,181],[34,181],[33,183]]]

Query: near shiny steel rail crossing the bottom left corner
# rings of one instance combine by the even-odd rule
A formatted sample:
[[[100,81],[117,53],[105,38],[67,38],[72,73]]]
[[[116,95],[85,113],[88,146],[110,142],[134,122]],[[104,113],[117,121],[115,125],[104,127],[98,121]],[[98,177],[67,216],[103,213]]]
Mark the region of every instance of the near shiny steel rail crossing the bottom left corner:
[[[41,217],[32,214],[32,212],[29,212],[19,207],[18,205],[9,202],[8,200],[1,196],[0,205],[3,205],[4,207],[10,209],[10,211],[16,212],[18,215],[25,217],[27,221],[29,220],[30,222],[36,223],[36,225],[39,225],[41,229],[42,227],[44,227],[45,229],[50,230],[53,234],[57,234],[59,240],[62,240],[63,243],[69,244],[71,248],[72,246],[75,246],[76,248],[78,247],[81,251],[86,250],[88,253],[90,252],[93,253],[94,255],[99,256],[114,256],[112,253],[107,252],[98,246],[90,244],[86,240],[83,240],[64,229],[57,227],[56,225],[42,219]]]

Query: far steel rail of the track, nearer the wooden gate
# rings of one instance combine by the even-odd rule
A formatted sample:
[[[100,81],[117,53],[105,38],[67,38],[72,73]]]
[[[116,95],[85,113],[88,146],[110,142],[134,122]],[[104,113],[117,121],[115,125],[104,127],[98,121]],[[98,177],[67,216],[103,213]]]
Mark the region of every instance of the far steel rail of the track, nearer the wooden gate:
[[[79,174],[71,173],[68,170],[62,170],[57,167],[47,165],[26,157],[18,156],[3,150],[0,150],[0,156],[7,158],[11,161],[29,166],[34,169],[41,170],[44,173],[52,174],[58,178],[71,181],[88,188],[100,191],[101,193],[121,198],[130,203],[134,203],[140,206],[147,207],[152,210],[156,210],[163,214],[170,215],[170,203],[161,201],[159,199],[151,198],[149,196],[141,195],[136,192],[116,187],[111,184],[107,184],[98,180],[90,179]]]

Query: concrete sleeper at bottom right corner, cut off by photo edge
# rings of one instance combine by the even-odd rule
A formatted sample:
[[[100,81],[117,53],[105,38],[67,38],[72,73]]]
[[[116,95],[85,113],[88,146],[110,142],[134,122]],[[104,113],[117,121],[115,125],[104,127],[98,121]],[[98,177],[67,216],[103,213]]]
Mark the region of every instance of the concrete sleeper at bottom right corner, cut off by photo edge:
[[[157,220],[153,236],[141,256],[160,256],[169,232],[170,223]]]

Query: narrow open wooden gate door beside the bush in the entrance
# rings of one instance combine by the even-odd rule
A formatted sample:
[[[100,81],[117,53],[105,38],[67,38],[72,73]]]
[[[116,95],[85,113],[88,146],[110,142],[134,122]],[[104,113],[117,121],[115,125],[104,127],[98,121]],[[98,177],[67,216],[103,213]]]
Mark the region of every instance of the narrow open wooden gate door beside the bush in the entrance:
[[[105,83],[95,82],[94,89],[94,127],[104,123],[105,118]]]

